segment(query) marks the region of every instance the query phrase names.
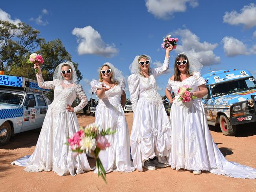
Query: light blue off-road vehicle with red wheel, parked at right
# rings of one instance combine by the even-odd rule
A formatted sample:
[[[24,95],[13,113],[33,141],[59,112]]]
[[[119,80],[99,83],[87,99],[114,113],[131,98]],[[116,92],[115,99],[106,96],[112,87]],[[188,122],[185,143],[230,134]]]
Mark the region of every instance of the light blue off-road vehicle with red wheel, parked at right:
[[[204,74],[208,94],[202,102],[209,125],[219,124],[234,136],[237,125],[256,122],[256,80],[247,70],[219,70]]]

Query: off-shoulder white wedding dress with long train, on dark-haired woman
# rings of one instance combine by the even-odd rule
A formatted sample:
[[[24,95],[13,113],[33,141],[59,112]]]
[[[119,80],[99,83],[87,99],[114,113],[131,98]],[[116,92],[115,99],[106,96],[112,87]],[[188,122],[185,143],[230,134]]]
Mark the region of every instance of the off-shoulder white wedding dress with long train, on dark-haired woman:
[[[205,84],[199,72],[182,82],[169,79],[167,89],[173,90],[175,100],[171,107],[171,155],[172,168],[186,170],[206,170],[213,174],[235,178],[256,178],[256,169],[227,161],[213,141],[208,128],[204,106],[201,99],[186,105],[178,102],[178,89],[188,85],[193,92]]]

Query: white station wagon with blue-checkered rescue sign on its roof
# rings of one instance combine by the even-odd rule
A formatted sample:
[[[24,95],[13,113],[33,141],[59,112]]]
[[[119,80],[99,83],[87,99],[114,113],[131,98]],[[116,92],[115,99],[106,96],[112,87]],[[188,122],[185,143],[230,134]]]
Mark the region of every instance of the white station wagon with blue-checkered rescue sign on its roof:
[[[0,75],[0,146],[15,133],[42,127],[50,100],[37,81]]]

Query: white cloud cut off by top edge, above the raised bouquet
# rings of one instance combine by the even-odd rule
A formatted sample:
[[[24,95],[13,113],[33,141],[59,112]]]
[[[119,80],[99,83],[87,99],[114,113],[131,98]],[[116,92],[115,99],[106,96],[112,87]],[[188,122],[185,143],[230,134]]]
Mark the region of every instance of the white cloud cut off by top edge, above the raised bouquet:
[[[184,12],[187,4],[191,7],[197,7],[197,0],[146,0],[148,12],[158,18],[168,18],[175,12]]]

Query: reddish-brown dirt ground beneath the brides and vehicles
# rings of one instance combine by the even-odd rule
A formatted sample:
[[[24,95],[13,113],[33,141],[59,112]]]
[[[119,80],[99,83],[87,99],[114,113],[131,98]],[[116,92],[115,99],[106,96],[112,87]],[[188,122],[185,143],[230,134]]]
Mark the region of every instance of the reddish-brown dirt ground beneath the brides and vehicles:
[[[125,115],[130,131],[133,114]],[[80,125],[85,126],[94,122],[95,118],[78,115],[78,120]],[[256,124],[238,127],[236,137],[224,136],[219,127],[210,126],[210,131],[226,159],[256,168]],[[171,168],[132,173],[111,172],[107,174],[106,185],[93,172],[60,177],[54,172],[28,173],[23,167],[10,165],[15,159],[33,152],[39,133],[40,129],[19,133],[6,146],[0,147],[0,192],[256,191],[256,179],[234,179],[209,172],[193,175],[186,170]],[[94,159],[89,159],[89,162],[92,166],[95,164]]]

